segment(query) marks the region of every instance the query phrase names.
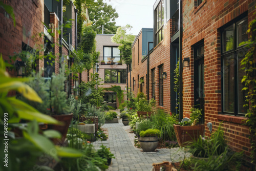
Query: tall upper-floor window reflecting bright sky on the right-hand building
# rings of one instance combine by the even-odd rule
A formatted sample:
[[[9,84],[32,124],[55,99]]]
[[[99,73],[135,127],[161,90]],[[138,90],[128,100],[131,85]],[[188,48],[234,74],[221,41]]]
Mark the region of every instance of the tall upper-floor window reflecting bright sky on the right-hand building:
[[[161,0],[155,9],[155,44],[163,39],[163,25],[164,25],[164,1]]]

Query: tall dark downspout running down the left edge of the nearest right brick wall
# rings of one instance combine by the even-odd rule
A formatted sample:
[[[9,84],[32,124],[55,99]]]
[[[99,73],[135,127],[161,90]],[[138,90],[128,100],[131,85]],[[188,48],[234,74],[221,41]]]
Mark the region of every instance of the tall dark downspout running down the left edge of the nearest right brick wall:
[[[183,83],[182,83],[182,74],[183,74],[183,65],[182,65],[182,35],[183,35],[183,27],[182,27],[182,0],[180,0],[179,3],[179,18],[180,18],[180,36],[179,36],[179,50],[180,50],[180,65],[179,65],[179,75],[180,75],[180,80],[179,80],[179,110],[180,110],[180,115],[179,115],[179,120],[183,119],[183,103],[182,103],[182,98],[183,98]]]

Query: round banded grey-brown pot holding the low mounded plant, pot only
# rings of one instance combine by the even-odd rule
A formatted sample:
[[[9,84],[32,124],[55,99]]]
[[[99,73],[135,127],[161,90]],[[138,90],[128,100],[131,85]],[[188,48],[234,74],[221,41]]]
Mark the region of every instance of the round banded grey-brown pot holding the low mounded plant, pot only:
[[[158,145],[157,137],[140,137],[140,146],[144,152],[155,152]]]

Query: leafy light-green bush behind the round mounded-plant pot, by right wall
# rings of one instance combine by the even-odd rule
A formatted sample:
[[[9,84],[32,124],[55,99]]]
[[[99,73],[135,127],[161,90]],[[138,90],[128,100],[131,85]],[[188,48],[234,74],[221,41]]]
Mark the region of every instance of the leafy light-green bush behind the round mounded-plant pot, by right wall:
[[[148,102],[144,97],[139,98],[139,101],[136,103],[138,117],[149,118],[153,113],[152,106],[154,106],[154,104],[155,104],[154,99],[151,99],[151,101]]]

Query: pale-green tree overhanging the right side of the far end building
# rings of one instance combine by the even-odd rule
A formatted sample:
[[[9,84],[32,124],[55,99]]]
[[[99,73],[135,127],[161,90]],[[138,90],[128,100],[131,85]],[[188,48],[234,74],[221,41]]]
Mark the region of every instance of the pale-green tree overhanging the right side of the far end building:
[[[114,36],[111,37],[112,42],[121,44],[118,49],[121,51],[122,60],[128,66],[132,62],[132,45],[135,39],[135,35],[126,34],[127,31],[131,30],[133,27],[126,25],[124,27],[119,27]]]

